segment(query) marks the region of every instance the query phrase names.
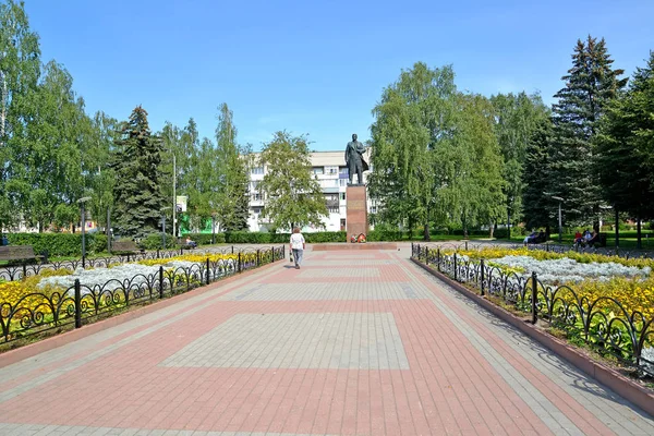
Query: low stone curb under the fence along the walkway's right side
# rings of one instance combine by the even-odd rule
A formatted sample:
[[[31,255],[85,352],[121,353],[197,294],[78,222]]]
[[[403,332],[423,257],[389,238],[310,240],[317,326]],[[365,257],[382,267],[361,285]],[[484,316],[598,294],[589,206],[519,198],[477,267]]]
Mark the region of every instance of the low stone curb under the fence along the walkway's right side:
[[[425,271],[429,272],[432,276],[436,277],[438,280],[446,282],[452,289],[456,289],[458,292],[471,299],[480,306],[493,313],[505,323],[510,324],[524,335],[536,340],[548,350],[557,354],[559,358],[565,359],[570,364],[588,374],[590,377],[613,389],[616,393],[633,402],[635,405],[643,409],[651,415],[654,415],[654,392],[640,386],[635,382],[630,380],[615,370],[592,360],[562,340],[541,330],[531,323],[525,322],[523,318],[520,318],[505,308],[494,304],[486,298],[477,295],[461,283],[450,279],[448,276],[429,268],[427,265],[424,265],[414,258],[411,258],[411,261]]]

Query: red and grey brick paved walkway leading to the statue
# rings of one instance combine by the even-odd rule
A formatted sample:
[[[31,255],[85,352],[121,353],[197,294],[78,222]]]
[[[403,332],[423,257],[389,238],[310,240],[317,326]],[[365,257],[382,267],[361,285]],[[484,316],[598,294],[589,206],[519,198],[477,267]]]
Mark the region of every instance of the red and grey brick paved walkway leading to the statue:
[[[408,256],[310,252],[1,368],[0,435],[654,435]]]

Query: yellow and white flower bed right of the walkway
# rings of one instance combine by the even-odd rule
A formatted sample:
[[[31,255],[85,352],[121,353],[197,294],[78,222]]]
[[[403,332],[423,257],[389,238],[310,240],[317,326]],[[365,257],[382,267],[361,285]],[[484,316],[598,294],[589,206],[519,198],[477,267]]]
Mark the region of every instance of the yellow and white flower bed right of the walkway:
[[[654,377],[654,261],[582,253],[415,245],[412,257],[468,288],[531,313]]]

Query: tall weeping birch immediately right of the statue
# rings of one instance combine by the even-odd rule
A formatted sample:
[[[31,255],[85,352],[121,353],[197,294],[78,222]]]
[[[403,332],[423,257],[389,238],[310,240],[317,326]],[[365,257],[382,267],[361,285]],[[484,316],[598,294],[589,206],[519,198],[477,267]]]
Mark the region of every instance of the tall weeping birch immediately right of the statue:
[[[402,71],[384,89],[373,109],[370,193],[379,205],[383,221],[424,226],[446,214],[436,203],[439,187],[435,173],[443,155],[437,148],[451,143],[455,131],[457,89],[451,66],[429,69],[419,62]]]

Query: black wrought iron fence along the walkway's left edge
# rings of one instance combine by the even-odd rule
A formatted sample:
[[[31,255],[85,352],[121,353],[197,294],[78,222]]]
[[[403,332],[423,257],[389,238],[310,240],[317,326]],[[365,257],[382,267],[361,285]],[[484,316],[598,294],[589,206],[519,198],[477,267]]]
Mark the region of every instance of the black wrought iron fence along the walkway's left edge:
[[[159,265],[156,272],[136,274],[124,280],[110,279],[102,284],[87,284],[75,279],[74,284],[65,290],[20,295],[15,302],[0,302],[0,343],[70,325],[80,328],[85,322],[104,313],[187,292],[221,278],[283,259],[284,256],[283,245],[244,249],[228,259],[211,261],[207,257],[204,262],[170,268]]]

